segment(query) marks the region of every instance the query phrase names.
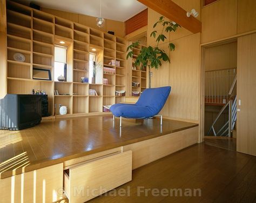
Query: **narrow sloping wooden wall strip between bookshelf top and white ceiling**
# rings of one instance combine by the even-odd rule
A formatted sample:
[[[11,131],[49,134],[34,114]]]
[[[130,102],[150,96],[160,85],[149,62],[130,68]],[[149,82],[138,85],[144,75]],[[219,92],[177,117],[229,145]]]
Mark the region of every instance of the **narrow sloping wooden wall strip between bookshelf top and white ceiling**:
[[[59,11],[59,10],[48,9],[48,8],[42,8],[42,11],[51,13],[52,15],[56,15],[65,19],[69,19],[70,21],[80,23],[104,32],[114,31],[116,36],[124,37],[124,22],[105,19],[105,25],[103,26],[103,28],[99,28],[96,25],[96,17],[93,17],[93,16],[86,16],[86,15],[81,15],[77,13]]]

